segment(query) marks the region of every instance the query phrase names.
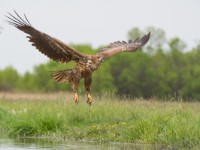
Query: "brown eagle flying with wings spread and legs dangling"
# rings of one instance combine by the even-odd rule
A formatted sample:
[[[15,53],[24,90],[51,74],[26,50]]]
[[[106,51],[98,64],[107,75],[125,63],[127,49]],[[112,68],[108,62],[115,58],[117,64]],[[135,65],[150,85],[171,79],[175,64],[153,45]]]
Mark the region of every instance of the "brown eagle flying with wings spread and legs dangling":
[[[90,94],[90,86],[92,83],[92,73],[97,70],[101,63],[120,52],[134,52],[137,49],[144,46],[149,38],[150,32],[141,38],[125,41],[117,41],[110,43],[107,47],[102,48],[100,52],[95,55],[87,55],[78,52],[76,49],[61,42],[60,40],[43,33],[34,28],[26,15],[21,17],[16,11],[14,14],[8,13],[6,15],[7,22],[10,25],[15,26],[17,29],[28,34],[27,38],[41,53],[49,57],[50,59],[60,62],[68,63],[70,61],[76,62],[76,65],[72,69],[61,70],[52,72],[52,77],[57,82],[69,82],[72,84],[74,91],[74,102],[78,103],[78,84],[80,80],[84,79],[84,86],[87,93],[87,103],[91,105],[92,97]]]

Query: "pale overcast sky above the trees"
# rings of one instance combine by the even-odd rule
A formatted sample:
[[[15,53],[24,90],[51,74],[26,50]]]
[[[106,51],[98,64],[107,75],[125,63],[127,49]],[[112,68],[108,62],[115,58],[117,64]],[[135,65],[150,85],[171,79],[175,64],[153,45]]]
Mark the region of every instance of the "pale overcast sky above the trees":
[[[148,26],[163,29],[169,39],[180,37],[189,48],[200,40],[200,0],[0,0],[0,70],[13,66],[24,73],[48,61],[26,34],[3,21],[13,9],[66,43],[98,47],[127,40],[133,27]]]

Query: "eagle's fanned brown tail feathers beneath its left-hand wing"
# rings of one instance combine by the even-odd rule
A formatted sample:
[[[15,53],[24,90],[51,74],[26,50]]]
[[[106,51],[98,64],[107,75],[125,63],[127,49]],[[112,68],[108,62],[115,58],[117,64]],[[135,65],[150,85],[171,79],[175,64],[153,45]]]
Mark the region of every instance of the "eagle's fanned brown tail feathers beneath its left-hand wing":
[[[72,81],[72,69],[52,71],[51,76],[57,82],[71,82]]]

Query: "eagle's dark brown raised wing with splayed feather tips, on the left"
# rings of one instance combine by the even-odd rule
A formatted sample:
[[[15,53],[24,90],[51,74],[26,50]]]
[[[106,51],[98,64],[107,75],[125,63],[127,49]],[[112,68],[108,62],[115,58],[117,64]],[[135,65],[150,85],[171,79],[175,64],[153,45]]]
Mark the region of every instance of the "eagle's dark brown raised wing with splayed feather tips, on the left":
[[[49,58],[61,63],[67,63],[69,61],[77,62],[85,57],[85,55],[79,53],[58,39],[42,33],[32,27],[25,15],[23,19],[17,14],[16,11],[14,12],[15,16],[8,13],[6,21],[19,30],[29,34],[27,38],[29,38],[29,41],[32,42],[32,45]]]

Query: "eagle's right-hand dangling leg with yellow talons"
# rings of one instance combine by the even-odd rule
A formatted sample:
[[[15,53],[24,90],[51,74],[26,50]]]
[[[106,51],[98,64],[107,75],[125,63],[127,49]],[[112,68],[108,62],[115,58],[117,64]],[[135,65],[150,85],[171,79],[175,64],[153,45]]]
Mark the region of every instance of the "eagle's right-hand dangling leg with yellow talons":
[[[85,90],[87,92],[87,103],[89,105],[92,104],[92,96],[90,94],[90,86],[91,86],[91,83],[92,83],[92,77],[91,77],[91,74],[89,74],[88,76],[86,76],[84,78],[84,86],[85,86]]]

